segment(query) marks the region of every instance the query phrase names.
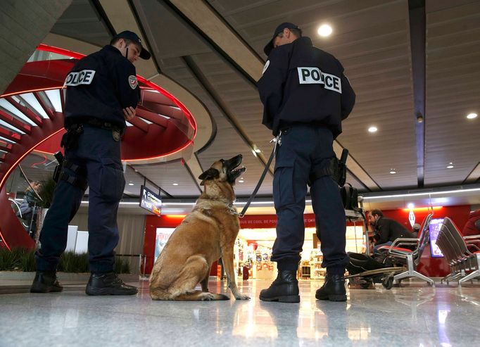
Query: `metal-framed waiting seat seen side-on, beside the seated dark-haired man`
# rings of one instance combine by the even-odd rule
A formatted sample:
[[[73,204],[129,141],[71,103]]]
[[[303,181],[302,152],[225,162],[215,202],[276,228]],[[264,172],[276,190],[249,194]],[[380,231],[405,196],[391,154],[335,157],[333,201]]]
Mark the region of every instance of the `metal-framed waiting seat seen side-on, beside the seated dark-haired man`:
[[[401,272],[393,277],[394,280],[400,282],[402,279],[415,277],[423,279],[427,283],[431,284],[431,286],[435,286],[433,279],[416,271],[424,248],[429,242],[429,225],[433,215],[433,213],[429,213],[429,215],[424,218],[417,239],[399,238],[393,241],[391,246],[379,248],[380,250],[384,248],[383,251],[388,250],[386,253],[386,258],[391,260],[392,263],[402,263],[407,266],[407,270],[405,272]]]

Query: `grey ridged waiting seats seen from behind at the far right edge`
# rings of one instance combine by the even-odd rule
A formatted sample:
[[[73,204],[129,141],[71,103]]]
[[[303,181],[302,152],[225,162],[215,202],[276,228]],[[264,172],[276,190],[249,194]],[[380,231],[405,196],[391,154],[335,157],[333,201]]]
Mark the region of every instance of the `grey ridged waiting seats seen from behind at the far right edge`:
[[[450,274],[443,277],[447,283],[458,279],[458,285],[480,277],[480,251],[469,251],[469,242],[476,236],[462,237],[459,229],[449,217],[443,219],[443,225],[438,232],[436,244],[446,256],[450,265]]]

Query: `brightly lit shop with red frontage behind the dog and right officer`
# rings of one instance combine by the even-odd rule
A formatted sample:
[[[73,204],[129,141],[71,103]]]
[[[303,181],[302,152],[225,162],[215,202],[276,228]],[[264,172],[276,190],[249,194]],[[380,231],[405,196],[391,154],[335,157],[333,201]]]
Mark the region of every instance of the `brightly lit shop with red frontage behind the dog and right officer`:
[[[159,249],[168,240],[168,235],[182,222],[182,215],[147,216],[145,234],[146,273],[151,271]],[[305,243],[298,266],[298,277],[322,279],[325,269],[321,267],[320,240],[315,234],[315,215],[305,214]],[[276,237],[275,215],[246,215],[240,220],[240,232],[234,246],[234,267],[239,279],[274,279],[277,263],[271,262],[272,246]],[[347,222],[346,251],[365,251],[365,229],[362,221]],[[210,275],[220,277],[220,265],[213,264]]]

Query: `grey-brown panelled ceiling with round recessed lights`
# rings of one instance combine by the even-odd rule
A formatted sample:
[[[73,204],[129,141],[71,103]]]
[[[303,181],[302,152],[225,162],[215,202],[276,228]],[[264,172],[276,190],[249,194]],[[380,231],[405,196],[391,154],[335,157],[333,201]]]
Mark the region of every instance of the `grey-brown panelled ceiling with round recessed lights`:
[[[122,27],[123,18],[137,27]],[[339,58],[357,94],[335,144],[338,154],[350,152],[348,182],[365,196],[479,187],[480,117],[466,115],[480,113],[480,1],[74,0],[51,34],[74,39],[81,51],[80,42],[103,46],[115,32],[141,32],[156,72],[193,95],[212,122],[206,144],[184,158],[197,166],[178,158],[126,163],[133,185],[125,197],[139,196],[145,182],[165,201],[189,201],[200,194],[198,172],[238,153],[247,171],[236,194],[250,196],[272,151],[255,81],[267,58],[263,46],[285,21]],[[333,27],[330,37],[317,34],[323,23]],[[143,65],[137,71],[153,75]],[[31,179],[45,172],[45,164],[32,166],[35,156],[23,165]],[[258,195],[272,196],[272,167]],[[479,196],[450,204],[479,204]],[[404,207],[408,198],[397,200]]]

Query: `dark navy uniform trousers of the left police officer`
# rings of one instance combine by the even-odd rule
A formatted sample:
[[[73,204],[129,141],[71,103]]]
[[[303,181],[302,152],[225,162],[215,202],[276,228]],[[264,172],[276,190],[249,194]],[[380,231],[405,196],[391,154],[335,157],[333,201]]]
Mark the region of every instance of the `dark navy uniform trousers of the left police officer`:
[[[66,150],[65,159],[80,165],[87,172],[89,185],[88,251],[91,272],[113,271],[119,240],[117,211],[125,188],[120,141],[115,141],[112,130],[84,125],[77,149]],[[68,168],[70,176],[78,173]],[[67,246],[68,223],[80,208],[84,190],[60,179],[53,193],[51,207],[46,213],[41,247],[35,258],[38,271],[56,271],[60,255]]]

